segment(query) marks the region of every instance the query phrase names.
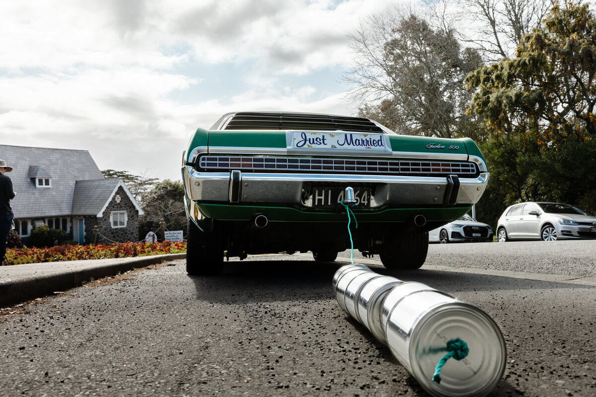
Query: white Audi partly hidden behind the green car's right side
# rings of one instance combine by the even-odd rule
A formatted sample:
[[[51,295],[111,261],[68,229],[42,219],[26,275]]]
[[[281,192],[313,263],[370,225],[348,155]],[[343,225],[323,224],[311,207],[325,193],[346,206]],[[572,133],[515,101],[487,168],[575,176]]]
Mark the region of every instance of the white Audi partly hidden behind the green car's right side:
[[[429,232],[429,242],[446,244],[473,241],[492,242],[492,229],[488,224],[476,221],[468,214]]]

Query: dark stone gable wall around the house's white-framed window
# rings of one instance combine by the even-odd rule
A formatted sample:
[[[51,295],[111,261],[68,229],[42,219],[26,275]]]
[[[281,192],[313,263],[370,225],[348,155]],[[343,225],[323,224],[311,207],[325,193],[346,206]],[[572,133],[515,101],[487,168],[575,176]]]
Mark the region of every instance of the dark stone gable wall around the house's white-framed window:
[[[116,199],[117,196],[120,196],[120,202]],[[126,227],[111,226],[111,214],[114,211],[126,212]],[[112,196],[110,203],[105,208],[103,217],[85,218],[86,243],[93,243],[93,227],[95,225],[99,226],[100,229],[97,235],[98,244],[136,242],[139,240],[139,214],[122,186]]]

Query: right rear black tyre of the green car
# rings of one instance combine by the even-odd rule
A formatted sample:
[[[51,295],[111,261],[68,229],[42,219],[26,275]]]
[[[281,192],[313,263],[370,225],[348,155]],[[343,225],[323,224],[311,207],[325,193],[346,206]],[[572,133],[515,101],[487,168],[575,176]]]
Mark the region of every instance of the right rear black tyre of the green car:
[[[406,232],[397,244],[386,249],[379,256],[388,269],[419,269],[426,261],[429,252],[429,233]]]

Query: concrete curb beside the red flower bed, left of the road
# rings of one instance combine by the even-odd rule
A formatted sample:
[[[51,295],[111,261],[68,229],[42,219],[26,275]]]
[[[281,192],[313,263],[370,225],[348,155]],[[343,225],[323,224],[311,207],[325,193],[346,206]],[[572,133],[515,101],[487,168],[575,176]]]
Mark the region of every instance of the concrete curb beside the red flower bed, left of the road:
[[[10,307],[56,291],[82,285],[91,279],[157,263],[185,259],[186,254],[114,258],[89,261],[46,262],[0,267],[0,307]]]

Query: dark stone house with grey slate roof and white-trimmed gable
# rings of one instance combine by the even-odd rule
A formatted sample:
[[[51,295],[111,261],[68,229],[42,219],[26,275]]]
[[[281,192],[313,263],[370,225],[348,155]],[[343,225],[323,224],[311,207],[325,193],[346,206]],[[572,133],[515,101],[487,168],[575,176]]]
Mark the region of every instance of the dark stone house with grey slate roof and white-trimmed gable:
[[[139,207],[122,179],[105,179],[88,151],[0,145],[17,196],[15,230],[26,242],[41,225],[63,229],[78,243],[138,241]]]

